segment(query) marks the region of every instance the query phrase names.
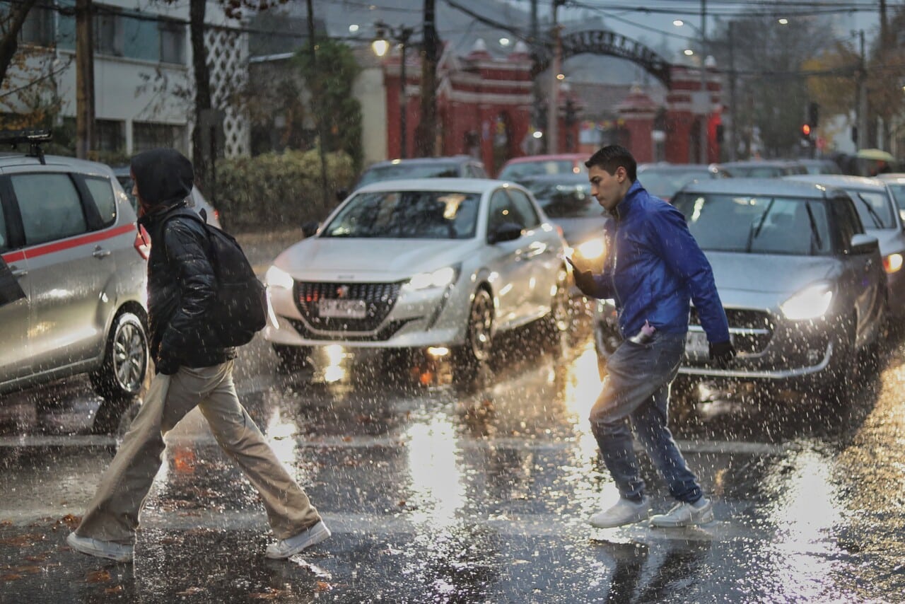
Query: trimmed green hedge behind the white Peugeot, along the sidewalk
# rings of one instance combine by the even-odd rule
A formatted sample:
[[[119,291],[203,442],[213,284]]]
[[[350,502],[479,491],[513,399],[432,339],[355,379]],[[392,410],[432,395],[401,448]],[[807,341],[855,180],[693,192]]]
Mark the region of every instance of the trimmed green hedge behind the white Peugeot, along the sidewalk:
[[[348,189],[353,177],[347,154],[327,154],[325,206],[317,149],[221,159],[216,166],[214,205],[224,227],[232,232],[298,227],[323,220],[338,204],[337,190]]]

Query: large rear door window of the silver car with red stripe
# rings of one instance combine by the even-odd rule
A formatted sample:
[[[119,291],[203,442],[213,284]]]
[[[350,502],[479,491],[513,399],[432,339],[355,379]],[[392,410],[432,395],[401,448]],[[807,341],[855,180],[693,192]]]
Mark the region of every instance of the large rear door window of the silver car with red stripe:
[[[17,174],[10,177],[19,202],[25,244],[79,235],[88,230],[81,199],[65,174]]]

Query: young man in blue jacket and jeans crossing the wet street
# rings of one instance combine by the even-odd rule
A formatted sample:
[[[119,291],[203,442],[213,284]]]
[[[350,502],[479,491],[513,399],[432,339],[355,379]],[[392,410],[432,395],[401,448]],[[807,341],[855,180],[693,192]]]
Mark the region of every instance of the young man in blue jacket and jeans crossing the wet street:
[[[576,285],[588,296],[615,300],[624,338],[607,362],[604,388],[590,417],[621,496],[590,523],[599,528],[648,518],[662,527],[709,523],[713,505],[672,440],[667,417],[670,384],[685,350],[690,301],[707,332],[710,358],[726,365],[735,356],[710,263],[679,210],[636,180],[637,165],[628,149],[604,147],[585,165],[591,194],[613,220],[605,225],[603,273],[576,271]],[[678,502],[668,513],[650,515],[633,430]]]

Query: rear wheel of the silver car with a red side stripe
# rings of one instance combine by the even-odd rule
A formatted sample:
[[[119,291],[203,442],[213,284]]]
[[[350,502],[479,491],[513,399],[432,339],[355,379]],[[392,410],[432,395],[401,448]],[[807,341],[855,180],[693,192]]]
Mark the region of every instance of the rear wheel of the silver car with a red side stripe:
[[[138,397],[148,374],[148,335],[138,315],[120,312],[110,326],[104,360],[89,374],[91,386],[108,400]]]

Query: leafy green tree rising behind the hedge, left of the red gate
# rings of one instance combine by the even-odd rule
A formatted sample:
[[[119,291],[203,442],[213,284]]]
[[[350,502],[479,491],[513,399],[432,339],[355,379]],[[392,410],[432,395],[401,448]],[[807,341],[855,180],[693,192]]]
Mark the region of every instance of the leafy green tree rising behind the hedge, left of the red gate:
[[[361,145],[361,103],[352,93],[352,86],[361,73],[352,49],[348,44],[320,39],[316,44],[319,69],[312,69],[312,56],[305,48],[296,54],[296,64],[309,91],[321,91],[311,95],[311,112],[319,116],[327,151],[344,151],[352,158],[355,171],[361,169],[364,149]],[[329,65],[329,69],[324,66]]]

